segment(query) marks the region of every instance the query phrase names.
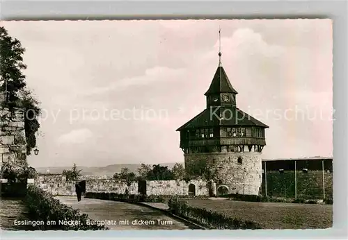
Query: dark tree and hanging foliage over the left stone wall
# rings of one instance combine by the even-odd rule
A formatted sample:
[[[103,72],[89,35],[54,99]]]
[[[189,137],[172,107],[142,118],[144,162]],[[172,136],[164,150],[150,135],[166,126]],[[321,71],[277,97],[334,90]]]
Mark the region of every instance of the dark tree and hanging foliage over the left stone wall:
[[[8,35],[8,31],[0,27],[0,92],[5,93],[2,107],[24,109],[24,124],[26,133],[26,154],[30,155],[36,145],[35,132],[40,124],[40,108],[31,90],[26,88],[26,76],[22,71],[26,69],[23,62],[25,52],[21,42]],[[7,92],[6,92],[7,90]]]

